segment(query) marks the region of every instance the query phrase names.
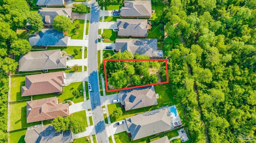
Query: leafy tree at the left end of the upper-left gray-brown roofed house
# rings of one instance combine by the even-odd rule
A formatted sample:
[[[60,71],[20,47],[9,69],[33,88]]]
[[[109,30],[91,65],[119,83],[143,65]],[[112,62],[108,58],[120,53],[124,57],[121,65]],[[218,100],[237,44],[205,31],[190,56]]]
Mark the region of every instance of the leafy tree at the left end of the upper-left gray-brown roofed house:
[[[27,22],[35,31],[41,31],[44,28],[43,18],[38,13],[31,12],[28,14]]]

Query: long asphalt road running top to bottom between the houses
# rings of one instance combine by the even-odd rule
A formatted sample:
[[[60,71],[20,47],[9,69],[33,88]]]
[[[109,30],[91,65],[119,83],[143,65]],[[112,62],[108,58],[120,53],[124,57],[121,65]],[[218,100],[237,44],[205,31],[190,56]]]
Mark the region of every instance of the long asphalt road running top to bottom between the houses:
[[[97,143],[109,143],[104,123],[104,116],[100,104],[100,92],[98,86],[98,59],[97,59],[97,41],[98,27],[100,21],[100,6],[95,0],[92,0],[91,18],[88,37],[88,74],[89,82],[92,84],[90,91],[90,100],[92,104],[92,119],[95,125]]]

